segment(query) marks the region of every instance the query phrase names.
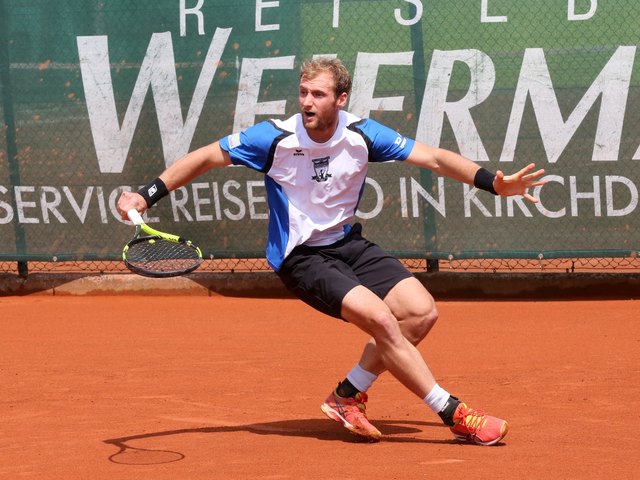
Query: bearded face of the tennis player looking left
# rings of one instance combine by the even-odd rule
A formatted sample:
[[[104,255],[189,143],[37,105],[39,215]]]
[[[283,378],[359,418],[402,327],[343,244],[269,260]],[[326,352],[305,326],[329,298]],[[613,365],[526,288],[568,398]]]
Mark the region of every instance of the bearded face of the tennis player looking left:
[[[338,125],[338,112],[347,101],[347,94],[336,97],[333,76],[322,72],[315,78],[300,79],[300,113],[309,137],[315,142],[329,140]]]

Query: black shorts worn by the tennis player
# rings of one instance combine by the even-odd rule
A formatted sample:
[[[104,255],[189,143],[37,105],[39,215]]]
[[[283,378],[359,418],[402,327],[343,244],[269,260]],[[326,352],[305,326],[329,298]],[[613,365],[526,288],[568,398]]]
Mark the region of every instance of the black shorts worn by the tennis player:
[[[342,318],[342,300],[363,285],[384,299],[401,280],[412,276],[400,261],[362,237],[356,223],[342,240],[327,246],[299,245],[278,271],[298,298],[327,315]]]

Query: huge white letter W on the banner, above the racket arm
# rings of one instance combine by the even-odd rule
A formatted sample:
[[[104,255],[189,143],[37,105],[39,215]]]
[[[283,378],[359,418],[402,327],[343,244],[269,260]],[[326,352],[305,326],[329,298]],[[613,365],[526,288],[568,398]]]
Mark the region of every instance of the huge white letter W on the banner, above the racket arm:
[[[186,121],[182,118],[171,33],[153,34],[122,127],[111,81],[107,37],[78,37],[87,110],[102,173],[122,172],[149,86],[156,105],[166,165],[187,153],[230,33],[231,29],[216,30]]]

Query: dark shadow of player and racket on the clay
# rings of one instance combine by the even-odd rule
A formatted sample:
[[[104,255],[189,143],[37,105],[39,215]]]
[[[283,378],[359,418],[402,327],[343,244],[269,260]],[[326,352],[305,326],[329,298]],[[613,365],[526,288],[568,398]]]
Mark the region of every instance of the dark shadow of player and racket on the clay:
[[[440,440],[419,438],[415,436],[415,434],[423,432],[424,428],[443,427],[441,423],[406,420],[378,420],[376,421],[376,426],[383,432],[384,442],[430,444],[456,443],[453,439]],[[144,444],[144,440],[174,435],[233,432],[250,432],[257,435],[279,435],[285,437],[307,437],[334,442],[363,443],[363,440],[360,437],[350,434],[339,424],[322,418],[281,420],[276,422],[253,423],[249,425],[166,430],[162,432],[131,435],[128,437],[111,438],[104,440],[104,443],[113,445],[118,449],[117,452],[109,457],[109,461],[113,463],[149,465],[177,462],[182,460],[184,455],[180,452],[152,450],[135,446]]]

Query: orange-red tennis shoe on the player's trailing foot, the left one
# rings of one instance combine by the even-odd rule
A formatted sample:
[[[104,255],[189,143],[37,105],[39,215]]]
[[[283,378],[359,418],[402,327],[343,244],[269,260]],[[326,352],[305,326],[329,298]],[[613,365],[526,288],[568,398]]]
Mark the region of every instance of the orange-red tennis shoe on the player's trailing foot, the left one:
[[[355,397],[343,398],[332,392],[320,409],[331,420],[341,423],[351,433],[370,441],[378,442],[382,433],[367,419],[367,394],[359,392]]]

